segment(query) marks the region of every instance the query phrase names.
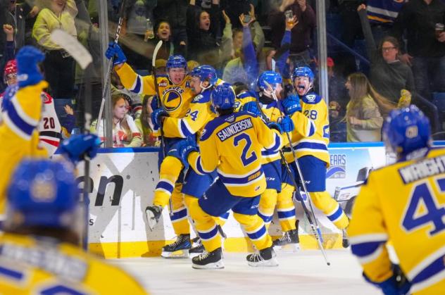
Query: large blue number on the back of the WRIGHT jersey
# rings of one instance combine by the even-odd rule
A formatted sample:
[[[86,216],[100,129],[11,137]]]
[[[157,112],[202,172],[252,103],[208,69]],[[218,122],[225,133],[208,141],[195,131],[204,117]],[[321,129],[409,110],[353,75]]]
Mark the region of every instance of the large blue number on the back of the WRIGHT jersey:
[[[445,193],[445,178],[437,180],[440,194]],[[405,216],[402,220],[402,225],[405,230],[411,232],[417,230],[419,227],[432,225],[430,235],[437,234],[445,230],[445,208],[437,201],[434,196],[434,191],[427,184],[423,182],[418,184],[413,189],[409,199],[408,208],[406,208]]]

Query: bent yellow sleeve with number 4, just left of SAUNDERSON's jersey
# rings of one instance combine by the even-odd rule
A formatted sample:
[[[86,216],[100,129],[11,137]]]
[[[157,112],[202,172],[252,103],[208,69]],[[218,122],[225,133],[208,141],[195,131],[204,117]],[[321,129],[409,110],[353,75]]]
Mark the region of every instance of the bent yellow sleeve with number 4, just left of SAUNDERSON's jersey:
[[[190,137],[201,130],[211,119],[208,103],[210,95],[197,95],[184,118],[167,117],[163,121],[165,137]]]

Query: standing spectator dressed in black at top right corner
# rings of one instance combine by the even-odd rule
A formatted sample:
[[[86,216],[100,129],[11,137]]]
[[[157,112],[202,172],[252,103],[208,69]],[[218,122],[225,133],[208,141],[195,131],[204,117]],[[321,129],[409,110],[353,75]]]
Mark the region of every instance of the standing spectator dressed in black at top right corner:
[[[399,40],[404,32],[408,44],[401,61],[412,66],[415,89],[426,99],[431,92],[445,92],[445,4],[441,0],[410,0],[397,16],[392,34]],[[430,87],[431,86],[431,87]]]

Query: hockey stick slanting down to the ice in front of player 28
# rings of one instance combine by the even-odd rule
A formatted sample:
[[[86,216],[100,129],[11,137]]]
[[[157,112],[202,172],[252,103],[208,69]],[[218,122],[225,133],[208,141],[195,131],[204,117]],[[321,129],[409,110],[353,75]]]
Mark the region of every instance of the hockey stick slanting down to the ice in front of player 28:
[[[273,90],[272,86],[268,82],[266,82],[266,81],[264,81],[264,82],[265,82],[265,85],[268,88],[272,89],[272,93],[271,93],[272,94],[272,98],[277,103],[280,103],[280,101],[278,101],[278,99],[277,99],[277,95],[275,94],[275,91]],[[284,118],[284,114],[283,114],[281,108],[278,108],[278,109],[280,110],[280,115],[282,116],[282,118]],[[294,146],[292,146],[292,139],[291,139],[291,137],[289,135],[289,132],[285,132],[285,133],[287,135],[287,139],[289,140],[289,146],[290,146],[290,149],[292,151],[292,155],[294,156],[294,163],[296,165],[296,170],[297,170],[297,172],[299,174],[299,177],[300,177],[300,180],[301,180],[301,186],[303,187],[303,191],[306,193],[306,196],[308,196],[309,207],[311,208],[311,213],[312,213],[313,220],[311,220],[312,219],[311,213],[308,211],[308,208],[306,207],[306,204],[304,203],[303,199],[301,199],[301,206],[303,207],[303,211],[306,214],[306,217],[308,218],[308,221],[309,221],[309,224],[311,225],[313,233],[315,234],[315,239],[318,242],[318,246],[320,246],[320,250],[321,250],[321,253],[322,253],[323,257],[325,258],[326,264],[327,265],[331,265],[331,263],[327,260],[326,252],[325,252],[325,249],[323,248],[323,245],[322,245],[322,239],[323,238],[322,238],[321,230],[320,230],[320,227],[318,226],[317,218],[315,218],[315,212],[313,211],[311,195],[309,194],[308,189],[306,188],[306,184],[304,183],[303,172],[301,172],[301,168],[300,168],[299,162],[298,162],[298,160],[296,158],[296,153],[295,153],[295,150],[294,150]],[[282,151],[280,151],[280,154],[284,158],[284,153]],[[292,171],[290,170],[290,167],[289,167],[289,165],[288,165],[288,163],[287,163],[285,158],[284,158],[284,165],[286,165],[286,168],[288,169],[288,172],[289,172],[291,178],[294,180],[294,177],[292,177]],[[294,185],[295,185],[295,189],[298,189],[298,186],[296,186],[296,181],[294,180],[293,182],[294,182]]]

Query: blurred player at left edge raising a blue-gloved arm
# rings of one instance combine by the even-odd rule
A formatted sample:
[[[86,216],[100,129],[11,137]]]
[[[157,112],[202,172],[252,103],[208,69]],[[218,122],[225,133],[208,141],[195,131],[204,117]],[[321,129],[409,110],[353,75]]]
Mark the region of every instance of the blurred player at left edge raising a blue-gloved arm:
[[[1,103],[0,124],[0,216],[4,213],[6,186],[16,165],[25,157],[46,157],[39,147],[36,128],[42,113],[42,90],[48,87],[37,63],[44,54],[32,46],[24,46],[17,56],[18,89],[8,87]],[[0,218],[1,219],[1,218]]]

